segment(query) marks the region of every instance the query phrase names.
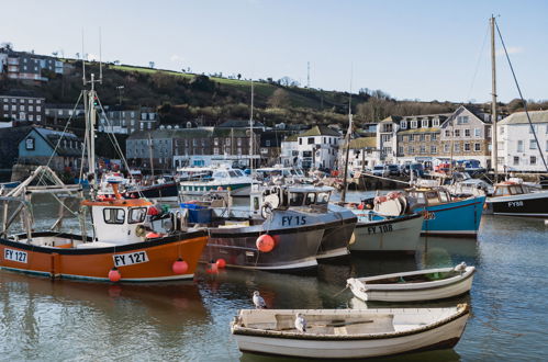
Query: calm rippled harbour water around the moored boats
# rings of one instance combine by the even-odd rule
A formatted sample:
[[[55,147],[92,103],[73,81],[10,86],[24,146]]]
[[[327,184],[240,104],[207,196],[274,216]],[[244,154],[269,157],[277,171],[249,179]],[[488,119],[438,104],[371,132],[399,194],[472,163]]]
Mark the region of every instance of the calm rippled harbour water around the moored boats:
[[[44,203],[35,213],[52,210]],[[546,360],[547,231],[544,220],[483,216],[478,240],[424,238],[414,257],[353,256],[347,264],[322,264],[313,275],[210,275],[201,265],[194,282],[111,285],[0,271],[0,360],[278,361],[242,354],[230,333],[237,309],[253,307],[253,291],[273,308],[345,308],[360,305],[348,291],[339,293],[349,276],[460,261],[478,268],[471,294],[430,304],[471,303],[459,344],[383,360]]]

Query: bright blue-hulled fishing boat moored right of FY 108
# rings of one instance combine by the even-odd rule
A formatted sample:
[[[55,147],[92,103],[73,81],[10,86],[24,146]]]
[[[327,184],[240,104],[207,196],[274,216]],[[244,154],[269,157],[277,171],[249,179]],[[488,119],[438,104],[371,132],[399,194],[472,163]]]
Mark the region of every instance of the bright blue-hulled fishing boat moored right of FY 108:
[[[477,237],[485,196],[454,197],[444,188],[407,190],[416,203],[414,212],[424,215],[421,235]]]

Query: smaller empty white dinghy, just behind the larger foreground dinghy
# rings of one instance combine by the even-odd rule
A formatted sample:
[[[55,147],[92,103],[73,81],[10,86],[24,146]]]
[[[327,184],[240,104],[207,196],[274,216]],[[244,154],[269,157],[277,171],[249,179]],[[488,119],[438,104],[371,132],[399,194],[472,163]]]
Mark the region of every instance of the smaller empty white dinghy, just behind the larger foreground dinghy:
[[[449,298],[470,292],[474,267],[418,270],[368,278],[350,278],[347,285],[361,301],[416,302]]]

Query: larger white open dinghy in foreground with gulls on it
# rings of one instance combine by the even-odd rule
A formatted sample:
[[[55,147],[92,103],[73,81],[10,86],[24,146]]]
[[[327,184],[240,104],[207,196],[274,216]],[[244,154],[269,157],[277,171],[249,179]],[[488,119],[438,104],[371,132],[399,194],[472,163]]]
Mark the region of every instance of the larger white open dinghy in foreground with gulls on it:
[[[468,316],[467,304],[450,308],[242,309],[232,323],[232,333],[243,352],[372,358],[452,348]]]

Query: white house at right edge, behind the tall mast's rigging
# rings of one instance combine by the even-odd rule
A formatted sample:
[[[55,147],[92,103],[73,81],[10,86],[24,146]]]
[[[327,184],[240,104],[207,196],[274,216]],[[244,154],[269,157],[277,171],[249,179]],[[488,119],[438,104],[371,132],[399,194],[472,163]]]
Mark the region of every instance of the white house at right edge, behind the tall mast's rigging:
[[[526,113],[513,113],[496,125],[499,160],[510,170],[546,172],[540,152],[548,161],[546,158],[548,154],[548,111],[529,112],[529,116],[540,149],[535,140]]]

